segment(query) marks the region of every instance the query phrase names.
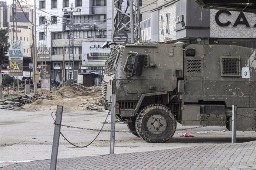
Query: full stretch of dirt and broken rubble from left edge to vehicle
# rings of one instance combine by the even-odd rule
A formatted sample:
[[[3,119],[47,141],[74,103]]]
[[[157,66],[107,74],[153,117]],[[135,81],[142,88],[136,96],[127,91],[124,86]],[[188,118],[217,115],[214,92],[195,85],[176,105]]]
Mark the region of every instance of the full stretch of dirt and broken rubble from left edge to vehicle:
[[[5,89],[4,89],[5,92]],[[13,91],[9,93],[12,95]],[[0,99],[0,109],[10,110],[56,110],[57,105],[63,105],[64,110],[102,110],[99,105],[101,99],[101,87],[86,87],[79,84],[52,88],[51,91],[37,89],[37,93],[20,95],[16,93],[10,97]]]

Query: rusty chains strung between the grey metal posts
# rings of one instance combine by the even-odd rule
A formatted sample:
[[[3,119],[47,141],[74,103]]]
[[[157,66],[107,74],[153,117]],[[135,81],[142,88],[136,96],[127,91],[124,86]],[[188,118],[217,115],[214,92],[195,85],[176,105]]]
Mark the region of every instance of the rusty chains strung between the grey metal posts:
[[[53,114],[53,113],[56,113],[56,112],[52,112],[52,114]],[[53,118],[53,116],[52,116],[52,118],[53,118],[53,120],[54,120],[54,124],[55,124],[55,125],[65,126],[65,127],[67,127],[67,128],[75,128],[75,129],[83,129],[83,130],[93,130],[93,131],[98,131],[99,133],[101,133],[101,132],[137,133],[137,131],[127,131],[127,130],[114,130],[114,131],[111,131],[111,130],[103,130],[103,127],[104,127],[104,125],[106,124],[106,120],[107,120],[107,118],[108,118],[108,115],[111,115],[110,111],[108,112],[108,114],[107,114],[107,116],[106,116],[106,119],[105,119],[105,121],[103,122],[103,125],[102,125],[101,129],[81,128],[81,127],[77,127],[77,126],[69,126],[69,125],[63,125],[63,124],[56,124],[56,123],[55,123],[55,119]],[[227,120],[226,120],[226,121],[221,121],[221,122],[217,123],[217,125],[218,125],[218,124],[222,124],[222,123],[231,122],[231,121],[233,121],[233,120],[243,119],[243,118],[256,119],[256,118],[250,117],[250,116],[255,115],[255,113],[253,113],[253,114],[251,114],[251,115],[248,115],[248,116],[240,115],[240,114],[237,114],[237,115],[242,116],[242,117],[237,118],[237,119],[228,120],[228,121],[227,121]],[[145,116],[145,117],[150,117],[150,116]],[[154,118],[154,117],[151,117],[151,118]],[[212,120],[212,119],[217,119],[217,118],[221,118],[221,117],[216,117],[216,118],[207,119],[207,121]],[[155,118],[155,119],[160,119],[160,118]],[[166,120],[166,119],[164,119],[164,120]],[[177,122],[193,122],[193,121],[200,121],[200,120],[177,120]],[[203,127],[207,127],[207,126],[214,126],[214,125],[202,125],[202,126],[197,126],[197,127],[192,127],[192,128],[184,128],[184,129],[176,129],[176,130],[181,130],[181,131],[183,131],[183,130],[190,130],[190,129],[203,128]],[[216,125],[215,125],[215,126],[216,126]],[[165,132],[165,131],[171,131],[171,130],[143,131],[143,132]],[[92,140],[92,142],[90,142],[88,145],[86,145],[86,146],[77,146],[77,145],[73,144],[72,142],[70,142],[68,139],[66,139],[66,137],[60,132],[60,134],[63,136],[64,140],[66,140],[68,143],[70,143],[71,145],[73,145],[73,146],[75,146],[75,147],[81,147],[81,148],[82,148],[82,147],[88,147],[89,145],[91,145],[91,144],[96,140],[96,138],[99,136],[99,133],[98,133],[98,134],[96,135],[96,137]]]

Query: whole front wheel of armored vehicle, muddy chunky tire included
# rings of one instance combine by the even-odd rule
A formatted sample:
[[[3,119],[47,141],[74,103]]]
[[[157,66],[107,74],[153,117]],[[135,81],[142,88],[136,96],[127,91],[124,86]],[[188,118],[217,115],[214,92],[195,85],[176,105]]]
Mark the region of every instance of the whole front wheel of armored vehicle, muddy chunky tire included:
[[[175,133],[176,125],[171,109],[161,104],[146,106],[135,122],[137,133],[142,139],[157,143],[169,140]]]

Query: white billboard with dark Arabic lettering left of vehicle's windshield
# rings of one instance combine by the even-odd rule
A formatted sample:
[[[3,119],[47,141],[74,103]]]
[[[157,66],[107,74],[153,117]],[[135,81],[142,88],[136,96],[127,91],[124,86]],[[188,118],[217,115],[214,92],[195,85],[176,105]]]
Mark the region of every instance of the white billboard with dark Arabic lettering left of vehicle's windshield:
[[[110,48],[102,49],[103,42],[82,42],[82,66],[104,67]]]

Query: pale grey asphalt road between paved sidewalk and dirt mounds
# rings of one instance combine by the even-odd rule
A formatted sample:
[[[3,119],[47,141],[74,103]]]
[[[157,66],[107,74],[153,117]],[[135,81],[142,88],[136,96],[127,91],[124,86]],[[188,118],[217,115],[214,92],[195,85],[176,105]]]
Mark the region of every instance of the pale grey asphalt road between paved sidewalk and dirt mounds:
[[[15,162],[50,159],[54,124],[52,111],[13,111],[0,109],[0,168]],[[63,112],[62,124],[81,128],[101,129],[108,112],[76,111]],[[110,130],[109,116],[104,130]],[[172,149],[188,146],[201,146],[214,143],[231,143],[231,132],[225,127],[208,126],[181,131],[178,129],[193,126],[177,125],[171,140],[166,143],[148,143],[131,133],[115,133],[115,153],[131,153],[152,150]],[[78,146],[88,145],[98,134],[95,130],[61,127],[61,132]],[[116,130],[127,131],[124,123],[116,123]],[[223,132],[224,130],[224,132]],[[181,137],[188,132],[194,137]],[[206,132],[206,133],[197,133]],[[70,145],[60,136],[58,158],[98,156],[109,154],[110,132],[101,132],[95,142],[88,147]],[[256,140],[254,131],[238,131],[237,142]]]

